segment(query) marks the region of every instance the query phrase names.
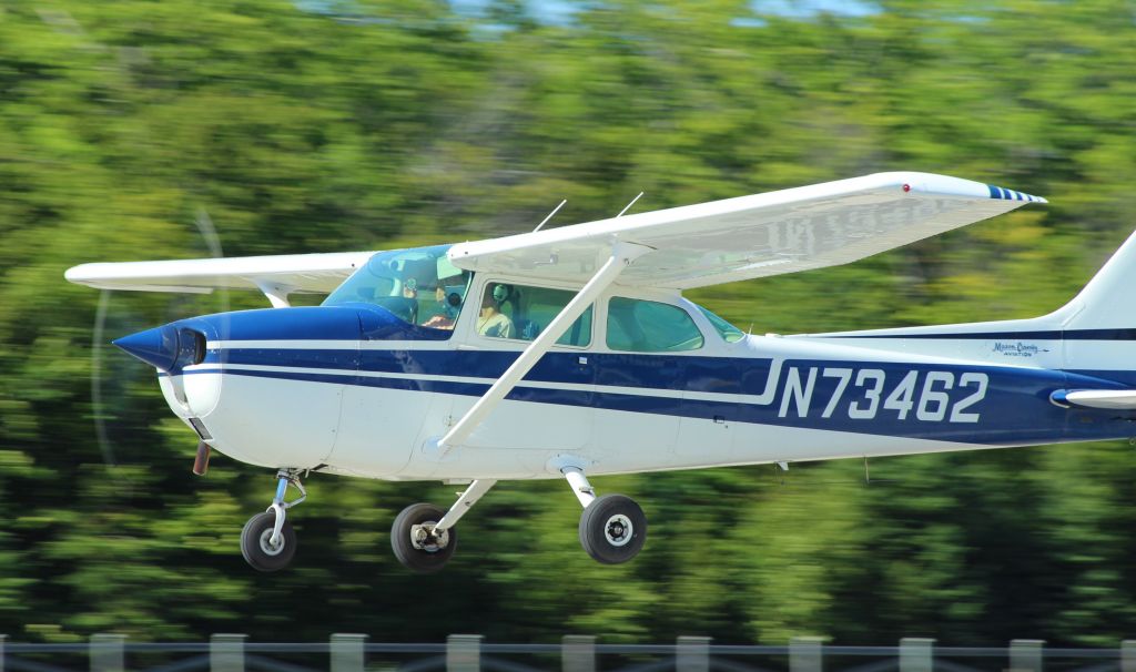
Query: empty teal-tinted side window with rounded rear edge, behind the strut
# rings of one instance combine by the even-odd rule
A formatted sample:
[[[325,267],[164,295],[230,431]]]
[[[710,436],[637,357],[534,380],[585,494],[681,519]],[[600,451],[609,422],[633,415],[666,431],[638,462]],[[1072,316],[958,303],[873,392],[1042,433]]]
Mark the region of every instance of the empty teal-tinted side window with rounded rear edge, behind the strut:
[[[669,303],[613,296],[608,302],[608,347],[626,352],[683,352],[704,339],[685,310]]]

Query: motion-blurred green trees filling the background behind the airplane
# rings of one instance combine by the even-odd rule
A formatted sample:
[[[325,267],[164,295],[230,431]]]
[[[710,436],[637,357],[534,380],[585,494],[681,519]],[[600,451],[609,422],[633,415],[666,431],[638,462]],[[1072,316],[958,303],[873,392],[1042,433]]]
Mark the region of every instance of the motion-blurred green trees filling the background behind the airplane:
[[[829,5],[0,3],[0,632],[1130,637],[1126,443],[880,460],[868,487],[853,462],[600,479],[652,523],[617,568],[579,548],[562,484],[503,484],[429,578],[392,557],[389,526],[454,488],[316,476],[295,564],[259,576],[237,538],[273,474],[217,456],[192,477],[192,432],[107,342],[262,297],[100,296],[62,279],[85,261],[490,237],[529,230],[561,198],[553,224],[640,191],[642,211],[913,169],[1052,205],[692,297],[755,333],[1068,300],[1133,227],[1130,0]]]

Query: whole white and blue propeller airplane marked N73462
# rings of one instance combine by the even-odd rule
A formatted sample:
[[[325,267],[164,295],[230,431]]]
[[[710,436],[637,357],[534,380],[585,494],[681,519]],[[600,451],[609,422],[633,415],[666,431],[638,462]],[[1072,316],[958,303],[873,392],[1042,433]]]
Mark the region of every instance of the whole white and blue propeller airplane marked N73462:
[[[1136,436],[1136,236],[1039,318],[753,336],[683,289],[850,263],[1028,203],[885,173],[495,240],[389,252],[89,263],[99,288],[256,288],[274,308],[177,320],[116,345],[158,370],[210,448],[277,470],[245,560],[285,566],[301,476],[468,484],[394,520],[395,556],[440,570],[499,480],[563,478],[602,563],[646,518],[588,477]],[[540,227],[537,227],[540,228]],[[296,292],[329,293],[289,308]],[[289,488],[298,498],[289,499]]]

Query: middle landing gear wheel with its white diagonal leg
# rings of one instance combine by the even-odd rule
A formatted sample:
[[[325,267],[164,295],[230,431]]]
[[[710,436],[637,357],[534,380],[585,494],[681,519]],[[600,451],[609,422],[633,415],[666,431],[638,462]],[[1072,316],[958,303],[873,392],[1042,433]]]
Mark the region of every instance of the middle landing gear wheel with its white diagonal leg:
[[[458,530],[453,526],[495,482],[475,480],[445,512],[433,504],[411,504],[403,509],[391,526],[394,556],[407,569],[421,574],[441,570],[458,547]]]

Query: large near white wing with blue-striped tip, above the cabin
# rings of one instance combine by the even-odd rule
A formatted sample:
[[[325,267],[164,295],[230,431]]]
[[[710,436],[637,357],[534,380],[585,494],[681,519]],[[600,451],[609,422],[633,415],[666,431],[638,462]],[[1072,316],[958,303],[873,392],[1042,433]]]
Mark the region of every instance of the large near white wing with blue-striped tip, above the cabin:
[[[621,285],[686,289],[849,263],[1045,199],[928,173],[838,182],[454,245],[459,268],[586,282],[612,242],[651,247]]]

